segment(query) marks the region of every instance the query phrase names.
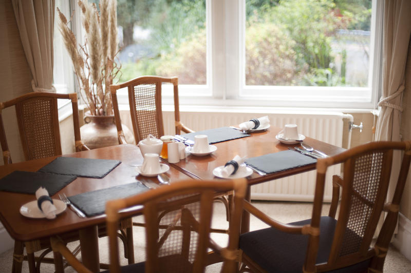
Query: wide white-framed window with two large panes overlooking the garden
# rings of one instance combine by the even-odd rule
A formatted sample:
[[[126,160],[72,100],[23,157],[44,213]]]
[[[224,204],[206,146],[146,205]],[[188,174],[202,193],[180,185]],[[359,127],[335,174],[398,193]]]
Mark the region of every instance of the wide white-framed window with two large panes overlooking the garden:
[[[182,105],[376,107],[381,1],[122,0],[117,11],[120,82],[177,75]]]

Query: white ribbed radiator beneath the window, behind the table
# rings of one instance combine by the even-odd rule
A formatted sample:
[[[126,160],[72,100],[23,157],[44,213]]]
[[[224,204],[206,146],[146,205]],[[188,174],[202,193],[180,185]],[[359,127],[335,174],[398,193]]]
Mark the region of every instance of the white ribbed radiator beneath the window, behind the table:
[[[257,112],[232,112],[212,111],[180,112],[180,120],[195,131],[217,128],[222,126],[238,125],[252,118],[268,115],[270,124],[283,127],[285,124],[298,125],[298,132],[311,138],[327,142],[335,146],[342,146],[343,141],[343,113],[335,112],[295,112],[282,111],[271,113]],[[164,131],[174,134],[174,112],[167,111],[163,114]],[[333,174],[340,174],[339,165],[329,168],[324,192],[324,201],[331,200]],[[282,201],[308,201],[314,196],[315,171],[292,175],[291,177],[261,183],[251,187],[251,198],[254,200],[282,200]]]

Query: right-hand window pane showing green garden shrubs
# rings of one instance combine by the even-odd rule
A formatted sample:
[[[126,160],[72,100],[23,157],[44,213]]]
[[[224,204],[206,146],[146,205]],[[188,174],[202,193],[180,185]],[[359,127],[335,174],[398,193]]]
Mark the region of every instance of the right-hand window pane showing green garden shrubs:
[[[371,0],[246,0],[246,85],[367,87]]]

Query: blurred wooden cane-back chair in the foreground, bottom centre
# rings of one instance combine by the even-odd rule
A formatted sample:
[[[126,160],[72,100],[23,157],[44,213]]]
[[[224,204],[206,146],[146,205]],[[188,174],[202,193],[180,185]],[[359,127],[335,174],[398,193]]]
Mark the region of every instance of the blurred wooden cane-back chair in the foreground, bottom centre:
[[[206,265],[216,261],[216,256],[223,261],[223,272],[237,271],[238,240],[232,238],[239,235],[246,189],[245,179],[187,180],[107,202],[110,272],[203,272]],[[209,237],[213,197],[216,191],[229,190],[234,192],[229,242],[226,248],[221,248]],[[136,205],[143,205],[146,261],[120,267],[116,229],[119,220],[130,217],[120,210]],[[56,260],[61,260],[61,253],[76,271],[90,272],[58,238],[52,238],[51,245]],[[207,252],[208,248],[214,251]]]

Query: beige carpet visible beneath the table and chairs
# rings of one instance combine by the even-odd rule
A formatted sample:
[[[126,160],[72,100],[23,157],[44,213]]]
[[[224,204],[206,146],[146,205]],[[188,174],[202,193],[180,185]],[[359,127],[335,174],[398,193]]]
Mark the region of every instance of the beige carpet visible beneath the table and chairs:
[[[308,203],[291,203],[291,202],[253,202],[260,210],[270,215],[272,218],[283,223],[303,220],[310,218],[311,204]],[[323,214],[328,213],[328,205],[325,205]],[[228,226],[225,221],[225,212],[222,204],[216,203],[216,210],[214,213],[213,225],[218,227]],[[267,227],[266,224],[259,222],[255,218],[251,218],[251,230]],[[135,257],[136,262],[144,261],[144,230],[141,227],[134,227],[134,242],[135,242]],[[213,239],[219,244],[227,243],[226,235],[213,235]],[[70,248],[75,247],[76,244],[70,244]],[[107,240],[101,238],[99,240],[100,247],[100,262],[108,263]],[[121,248],[120,248],[121,249]],[[11,271],[12,250],[6,251],[0,255],[0,272]],[[51,257],[51,256],[50,256]],[[126,264],[126,260],[122,261]],[[219,272],[221,264],[215,264],[207,267],[206,272]],[[411,261],[408,261],[401,253],[394,247],[390,247],[384,265],[385,272],[409,273],[411,272]],[[23,263],[23,272],[28,272],[27,262]],[[42,264],[41,272],[54,272],[54,266],[49,264]],[[73,268],[67,267],[65,272],[74,272]]]

